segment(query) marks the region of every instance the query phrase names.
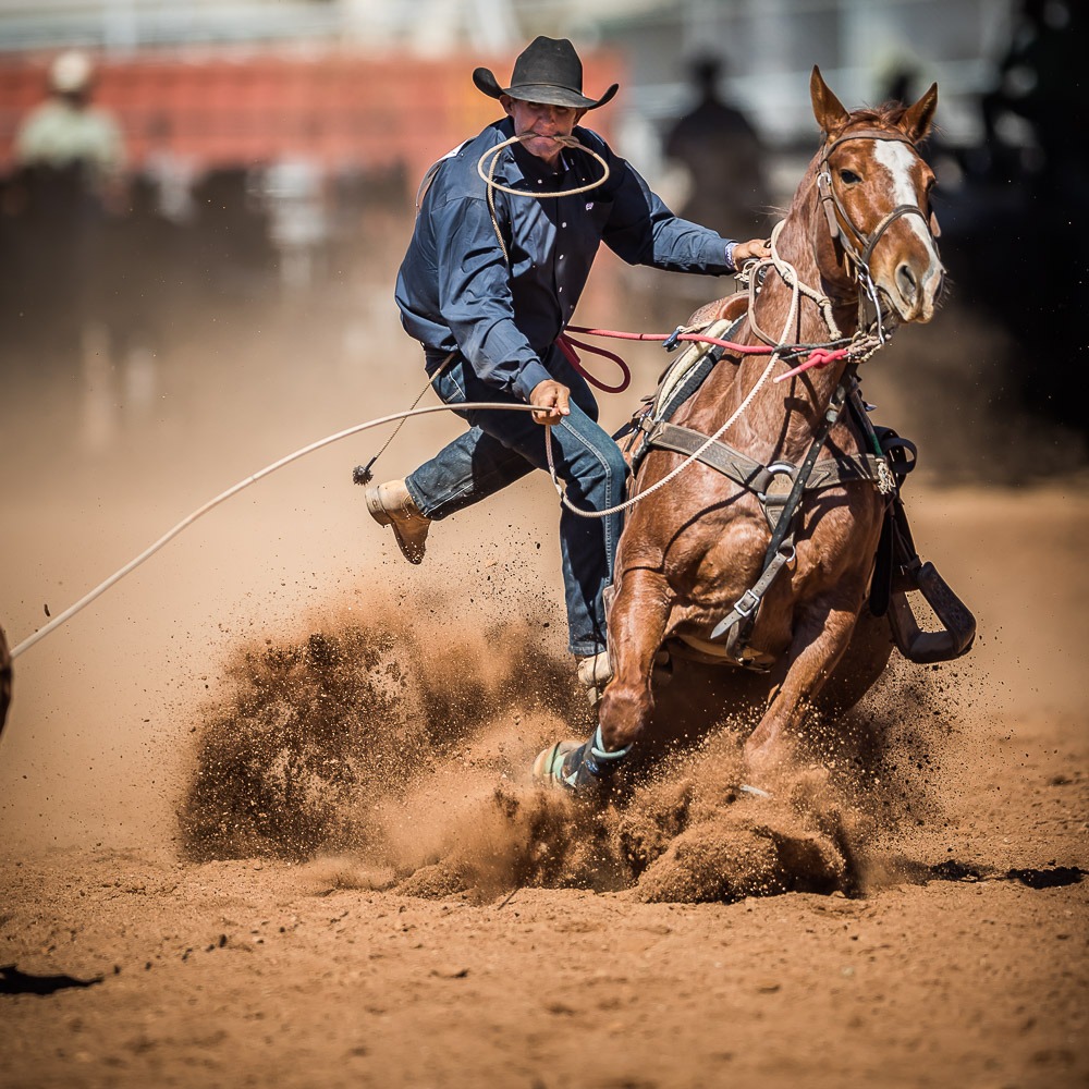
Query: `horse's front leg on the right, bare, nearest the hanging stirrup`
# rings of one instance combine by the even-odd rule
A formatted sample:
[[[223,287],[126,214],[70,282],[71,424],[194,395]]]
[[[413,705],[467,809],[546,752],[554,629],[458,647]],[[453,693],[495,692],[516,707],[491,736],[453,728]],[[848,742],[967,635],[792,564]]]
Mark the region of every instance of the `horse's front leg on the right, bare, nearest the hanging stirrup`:
[[[774,670],[774,696],[745,743],[750,779],[769,784],[792,762],[798,725],[851,643],[857,610],[810,608],[799,616],[790,650]]]

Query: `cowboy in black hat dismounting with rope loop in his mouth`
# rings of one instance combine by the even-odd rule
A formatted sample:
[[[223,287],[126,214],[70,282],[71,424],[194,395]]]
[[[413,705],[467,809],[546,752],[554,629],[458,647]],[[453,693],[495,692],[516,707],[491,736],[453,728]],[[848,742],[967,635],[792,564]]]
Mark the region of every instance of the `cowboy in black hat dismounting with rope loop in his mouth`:
[[[546,438],[573,505],[603,512],[623,501],[624,457],[556,344],[600,243],[631,265],[705,276],[769,254],[762,241],[729,241],[678,219],[579,126],[617,85],[597,99],[584,95],[583,65],[567,39],[534,39],[507,87],[484,68],[473,82],[506,115],[429,172],[396,302],[444,402],[533,411],[463,411],[469,429],[460,438],[406,479],[368,487],[370,514],[392,526],[412,563],[423,560],[432,522],[546,469]],[[587,518],[563,507],[560,516],[568,644],[590,688],[609,675],[602,595],[620,531],[619,513]]]

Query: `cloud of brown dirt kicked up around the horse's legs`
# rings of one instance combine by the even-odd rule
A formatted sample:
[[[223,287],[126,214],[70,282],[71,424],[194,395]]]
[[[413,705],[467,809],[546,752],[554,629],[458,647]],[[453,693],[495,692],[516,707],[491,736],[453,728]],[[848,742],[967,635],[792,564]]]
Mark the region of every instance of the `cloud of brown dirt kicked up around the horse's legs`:
[[[896,671],[813,724],[804,770],[771,799],[742,786],[750,723],[736,717],[675,723],[684,742],[617,780],[608,806],[541,791],[535,754],[587,736],[591,712],[547,600],[515,592],[504,612],[377,594],[295,639],[233,648],[197,715],[183,856],[305,861],[340,886],[424,897],[529,885],[729,902],[858,893],[894,866],[881,839],[937,812],[956,708]]]

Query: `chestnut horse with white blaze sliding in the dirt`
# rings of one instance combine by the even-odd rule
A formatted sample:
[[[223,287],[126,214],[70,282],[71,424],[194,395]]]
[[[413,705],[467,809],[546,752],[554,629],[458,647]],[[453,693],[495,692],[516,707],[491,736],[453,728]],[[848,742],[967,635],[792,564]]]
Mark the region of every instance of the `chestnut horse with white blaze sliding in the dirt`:
[[[891,481],[880,473],[828,470],[874,464],[858,414],[837,415],[857,397],[854,366],[877,346],[874,329],[883,342],[900,322],[929,321],[941,292],[929,205],[934,176],[916,148],[930,130],[938,87],[909,107],[848,112],[815,68],[810,96],[823,143],[776,227],[773,260],[752,273],[759,290],[731,334],[781,352],[770,364],[767,354],[715,364],[671,420],[674,438],[687,435],[687,444],[662,449],[651,436],[633,485],[644,499],[628,512],[609,605],[613,677],[594,736],[538,758],[535,772],[552,784],[599,785],[648,736],[656,658],[674,647],[735,672],[767,671],[769,701],[746,742],[745,764],[751,782],[769,785],[857,634]],[[861,328],[867,298],[876,321]],[[734,317],[727,301],[699,311],[705,319],[724,314]],[[849,347],[831,352],[834,362],[820,369],[773,381],[791,367],[779,358],[790,354],[784,345],[818,344]],[[734,478],[700,460],[648,494],[705,437],[729,442]],[[738,462],[754,466],[745,482]],[[886,464],[878,467],[889,473]],[[788,523],[778,536],[767,503],[774,491]],[[869,670],[861,687],[888,661],[888,628],[880,644],[861,670]]]

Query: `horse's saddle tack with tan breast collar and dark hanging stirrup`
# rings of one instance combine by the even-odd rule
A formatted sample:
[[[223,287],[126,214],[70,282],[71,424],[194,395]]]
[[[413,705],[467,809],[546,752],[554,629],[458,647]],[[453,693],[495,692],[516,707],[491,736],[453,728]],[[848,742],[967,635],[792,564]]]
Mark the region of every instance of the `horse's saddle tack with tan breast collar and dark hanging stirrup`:
[[[708,304],[698,310],[690,326],[703,327],[708,335],[718,340],[732,340],[747,309],[748,298],[736,294]],[[680,331],[680,330],[678,330]],[[915,467],[915,443],[901,438],[892,428],[874,427],[866,415],[866,407],[857,389],[844,394],[844,401],[856,426],[868,440],[868,445],[880,455],[866,453],[860,457],[839,455],[819,458],[799,469],[780,463],[764,466],[721,441],[707,444],[707,436],[670,423],[670,418],[700,388],[726,355],[720,345],[690,343],[659,379],[658,389],[644,399],[643,405],[629,423],[615,436],[632,468],[629,486],[634,482],[639,465],[652,449],[671,450],[682,454],[697,454],[697,458],[719,473],[756,493],[764,510],[773,535],[780,538],[793,519],[802,489],[827,488],[844,480],[872,480],[888,497],[885,516],[870,582],[869,609],[874,616],[888,616],[893,641],[900,652],[918,664],[952,661],[968,652],[976,636],[976,620],[964,602],[953,592],[934,565],[922,562],[915,549],[907,512],[901,500],[901,487]],[[699,453],[697,453],[699,451]],[[816,455],[816,451],[815,451]],[[799,487],[797,476],[804,469]],[[791,502],[795,505],[792,507]],[[787,525],[780,527],[782,518]],[[756,612],[764,590],[771,584],[779,566],[766,560],[764,572],[756,586],[743,596],[744,608],[735,609],[720,622],[712,641],[698,640],[700,657],[720,657],[749,669],[766,671],[771,662],[763,657],[747,654],[745,638],[755,624]],[[940,627],[926,631],[913,609],[910,595],[918,594],[929,605]],[[741,602],[738,603],[741,604]],[[736,615],[735,615],[736,613]],[[719,643],[720,636],[725,640]]]

